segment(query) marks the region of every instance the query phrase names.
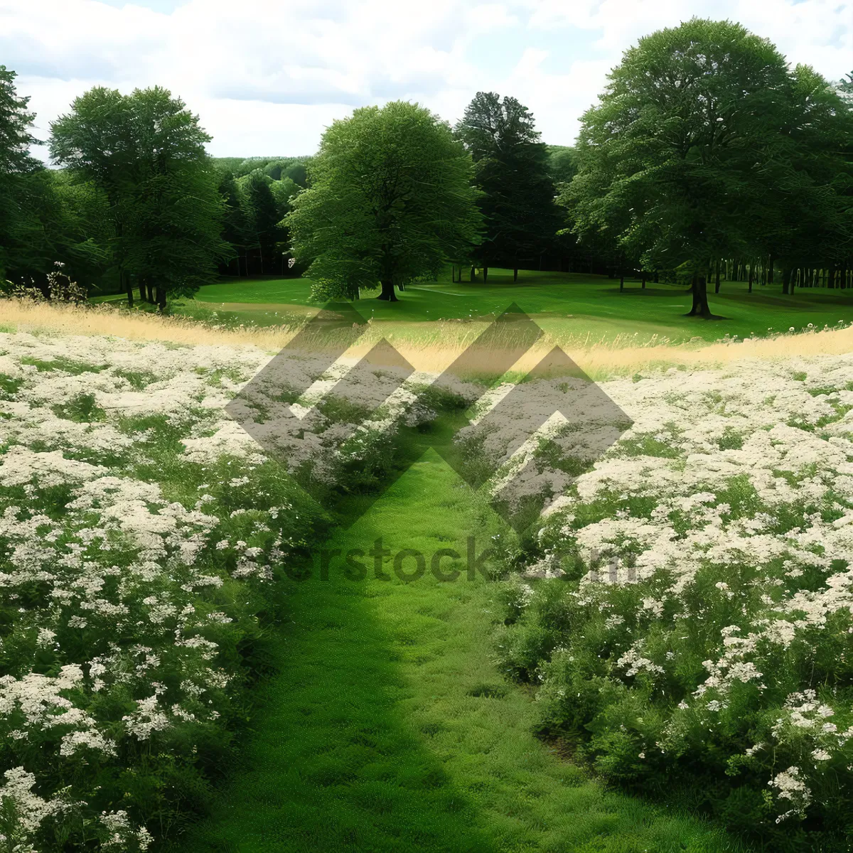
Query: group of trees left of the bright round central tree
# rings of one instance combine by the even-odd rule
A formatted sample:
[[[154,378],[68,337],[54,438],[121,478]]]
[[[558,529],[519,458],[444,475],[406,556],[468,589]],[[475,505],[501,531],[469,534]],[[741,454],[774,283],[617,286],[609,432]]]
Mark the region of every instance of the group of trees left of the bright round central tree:
[[[49,295],[61,269],[91,293],[164,307],[218,273],[285,269],[280,223],[310,157],[214,159],[168,91],[96,87],[51,124],[48,169],[14,81],[0,67],[0,282]]]

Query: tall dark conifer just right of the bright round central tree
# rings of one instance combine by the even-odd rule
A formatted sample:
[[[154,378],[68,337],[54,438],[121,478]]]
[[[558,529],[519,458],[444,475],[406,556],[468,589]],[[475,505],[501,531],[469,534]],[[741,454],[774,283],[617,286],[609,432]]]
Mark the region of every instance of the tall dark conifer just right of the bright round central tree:
[[[475,257],[485,268],[511,263],[553,245],[560,228],[548,148],[527,107],[513,97],[478,92],[456,125],[474,161],[485,238]]]

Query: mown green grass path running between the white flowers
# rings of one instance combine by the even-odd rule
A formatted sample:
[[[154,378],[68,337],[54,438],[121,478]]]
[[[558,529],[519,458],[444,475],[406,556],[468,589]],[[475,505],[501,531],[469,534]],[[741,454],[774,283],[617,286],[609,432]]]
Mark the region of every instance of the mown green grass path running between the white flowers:
[[[532,734],[534,703],[491,662],[490,583],[467,580],[497,519],[433,453],[328,548],[416,548],[411,583],[343,577],[293,583],[280,673],[258,703],[241,769],[187,853],[359,850],[583,851],[739,849],[700,821],[604,792]],[[456,548],[454,583],[429,571]],[[403,565],[415,570],[415,560]]]

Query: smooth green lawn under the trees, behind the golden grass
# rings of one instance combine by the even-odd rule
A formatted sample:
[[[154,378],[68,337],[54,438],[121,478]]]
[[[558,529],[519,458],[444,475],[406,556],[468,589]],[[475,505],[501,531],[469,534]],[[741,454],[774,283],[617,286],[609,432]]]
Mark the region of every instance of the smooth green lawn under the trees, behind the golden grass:
[[[783,296],[779,284],[747,293],[744,282],[724,281],[722,293],[713,293],[711,310],[721,320],[699,320],[684,316],[691,299],[685,288],[640,281],[625,282],[606,276],[572,273],[519,272],[514,283],[510,270],[490,270],[488,284],[482,281],[453,283],[450,270],[438,282],[410,286],[394,304],[371,296],[357,303],[364,316],[376,320],[424,322],[438,319],[489,316],[515,302],[540,324],[559,327],[561,333],[589,334],[593,339],[611,339],[618,334],[637,334],[647,340],[657,334],[681,341],[692,337],[716,340],[725,334],[749,336],[805,328],[822,328],[839,320],[853,321],[853,293],[819,288],[798,290]],[[195,305],[206,305],[239,322],[270,325],[285,322],[310,303],[310,281],[289,279],[232,279],[202,287]],[[186,309],[190,306],[187,305]],[[180,310],[180,309],[178,309]]]

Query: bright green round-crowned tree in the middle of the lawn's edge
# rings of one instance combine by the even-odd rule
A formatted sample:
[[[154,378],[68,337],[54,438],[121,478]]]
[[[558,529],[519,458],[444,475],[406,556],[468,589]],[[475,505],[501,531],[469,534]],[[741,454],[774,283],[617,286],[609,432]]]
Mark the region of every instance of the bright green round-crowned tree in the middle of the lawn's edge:
[[[450,126],[407,102],[335,121],[285,218],[318,299],[357,299],[430,275],[478,239],[473,167]]]

